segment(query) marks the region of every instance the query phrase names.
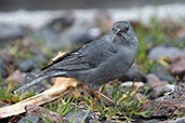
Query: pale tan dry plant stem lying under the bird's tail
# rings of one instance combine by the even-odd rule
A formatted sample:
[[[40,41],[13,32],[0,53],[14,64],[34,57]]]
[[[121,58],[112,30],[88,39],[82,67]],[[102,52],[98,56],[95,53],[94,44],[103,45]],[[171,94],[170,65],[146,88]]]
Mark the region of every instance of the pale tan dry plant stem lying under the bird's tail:
[[[55,100],[66,95],[68,93],[66,91],[70,86],[77,86],[77,82],[75,82],[74,79],[71,80],[69,78],[56,78],[54,85],[51,88],[44,91],[43,93],[22,100],[17,104],[0,108],[0,119],[23,113],[26,111],[25,107],[28,105],[39,106]]]

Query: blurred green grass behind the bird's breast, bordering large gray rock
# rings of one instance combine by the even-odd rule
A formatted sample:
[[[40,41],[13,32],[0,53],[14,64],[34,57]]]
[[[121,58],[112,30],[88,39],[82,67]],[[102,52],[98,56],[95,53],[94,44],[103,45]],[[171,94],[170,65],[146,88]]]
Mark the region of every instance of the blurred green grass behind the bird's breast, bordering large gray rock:
[[[171,38],[171,35],[174,35],[175,31],[167,32],[168,24],[161,24],[157,22],[157,17],[154,15],[147,27],[143,26],[141,23],[134,27],[135,33],[138,39],[140,47],[136,56],[136,64],[138,68],[145,73],[149,73],[153,66],[157,64],[156,60],[149,60],[148,51],[157,45],[167,44],[174,45],[179,49],[185,47],[185,41],[180,43],[177,39]],[[149,37],[149,39],[146,39]]]

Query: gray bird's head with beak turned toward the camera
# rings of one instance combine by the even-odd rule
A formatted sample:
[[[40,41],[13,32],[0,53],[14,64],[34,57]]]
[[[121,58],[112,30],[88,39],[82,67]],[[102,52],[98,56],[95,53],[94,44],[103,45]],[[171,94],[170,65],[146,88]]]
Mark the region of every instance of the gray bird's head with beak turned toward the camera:
[[[137,38],[129,22],[117,22],[113,25],[114,41],[121,44],[137,44]]]

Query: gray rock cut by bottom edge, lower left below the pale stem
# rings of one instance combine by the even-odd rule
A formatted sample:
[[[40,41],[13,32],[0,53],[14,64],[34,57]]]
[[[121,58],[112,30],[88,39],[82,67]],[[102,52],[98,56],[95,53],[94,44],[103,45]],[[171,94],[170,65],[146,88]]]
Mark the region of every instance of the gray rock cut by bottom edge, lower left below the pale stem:
[[[22,118],[17,123],[40,123],[40,119],[35,115],[26,115]]]

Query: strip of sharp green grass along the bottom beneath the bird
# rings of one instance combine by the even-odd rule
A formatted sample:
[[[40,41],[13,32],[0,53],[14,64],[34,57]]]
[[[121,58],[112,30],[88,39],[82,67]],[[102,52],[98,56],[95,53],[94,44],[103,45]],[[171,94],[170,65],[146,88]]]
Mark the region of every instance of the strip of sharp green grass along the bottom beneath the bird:
[[[110,106],[107,100],[101,99],[97,101],[96,98],[92,97],[91,95],[81,96],[79,98],[74,98],[70,95],[64,97],[58,104],[49,105],[45,107],[49,110],[60,113],[62,117],[65,117],[69,111],[74,111],[74,121],[77,110],[80,107],[85,107],[87,114],[84,115],[83,120],[88,117],[90,111],[92,110],[94,114],[98,115],[100,119],[105,120],[114,120],[119,122],[132,122],[136,117],[147,117],[148,111],[140,112],[142,104],[145,101],[146,96],[142,98],[136,98],[136,93],[138,88],[131,88],[124,91],[119,88],[120,84],[115,84],[111,87],[105,87],[105,90],[113,90],[111,99],[117,102],[120,107]]]

